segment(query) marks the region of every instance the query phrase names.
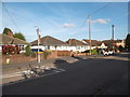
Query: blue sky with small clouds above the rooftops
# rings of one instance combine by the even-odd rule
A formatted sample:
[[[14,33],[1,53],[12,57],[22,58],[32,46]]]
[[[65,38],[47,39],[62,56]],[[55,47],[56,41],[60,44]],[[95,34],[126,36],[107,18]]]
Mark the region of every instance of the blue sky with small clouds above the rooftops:
[[[104,5],[106,5],[104,9]],[[6,11],[8,10],[8,11]],[[89,39],[88,15],[91,15],[91,39],[125,39],[128,33],[128,2],[2,2],[2,29],[22,32],[27,42],[51,36],[62,41]]]

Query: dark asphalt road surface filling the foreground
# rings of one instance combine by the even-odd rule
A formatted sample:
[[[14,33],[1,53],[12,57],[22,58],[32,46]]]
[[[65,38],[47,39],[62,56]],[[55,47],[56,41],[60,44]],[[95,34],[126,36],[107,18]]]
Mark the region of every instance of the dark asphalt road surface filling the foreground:
[[[121,55],[117,56],[121,57]],[[75,58],[78,59],[78,61],[72,64],[55,60],[55,66],[65,71],[3,85],[2,93],[3,95],[128,94],[129,60],[110,58]]]

